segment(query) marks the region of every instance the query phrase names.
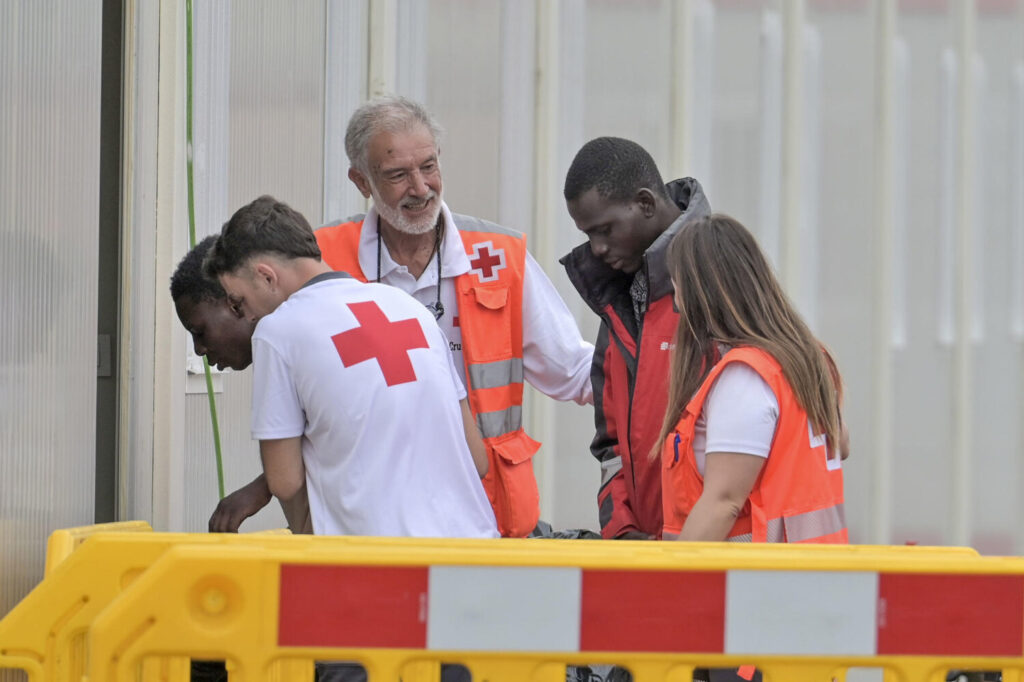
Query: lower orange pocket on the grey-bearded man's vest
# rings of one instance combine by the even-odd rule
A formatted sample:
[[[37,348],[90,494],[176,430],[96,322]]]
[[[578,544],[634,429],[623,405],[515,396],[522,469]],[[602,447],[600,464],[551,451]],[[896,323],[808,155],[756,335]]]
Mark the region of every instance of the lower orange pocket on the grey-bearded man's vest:
[[[483,488],[503,538],[525,538],[541,517],[534,455],[541,443],[519,429],[487,441],[490,468]]]

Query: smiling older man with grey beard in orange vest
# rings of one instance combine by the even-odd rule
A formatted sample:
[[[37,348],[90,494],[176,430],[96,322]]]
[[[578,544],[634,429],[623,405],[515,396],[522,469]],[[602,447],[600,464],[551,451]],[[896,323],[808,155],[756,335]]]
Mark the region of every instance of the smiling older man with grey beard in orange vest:
[[[540,515],[530,463],[540,443],[522,430],[522,382],[590,404],[594,348],[524,235],[449,210],[440,136],[433,117],[403,97],[360,106],[345,134],[348,177],[373,207],[321,227],[316,241],[334,269],[397,287],[434,314],[487,446],[483,484],[499,529],[521,538]]]

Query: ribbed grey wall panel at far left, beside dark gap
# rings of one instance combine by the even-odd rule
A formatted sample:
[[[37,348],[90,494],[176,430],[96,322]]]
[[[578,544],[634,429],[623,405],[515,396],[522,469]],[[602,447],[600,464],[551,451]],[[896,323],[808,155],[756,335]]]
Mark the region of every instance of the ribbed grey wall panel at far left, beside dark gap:
[[[0,614],[93,518],[101,9],[0,4]]]

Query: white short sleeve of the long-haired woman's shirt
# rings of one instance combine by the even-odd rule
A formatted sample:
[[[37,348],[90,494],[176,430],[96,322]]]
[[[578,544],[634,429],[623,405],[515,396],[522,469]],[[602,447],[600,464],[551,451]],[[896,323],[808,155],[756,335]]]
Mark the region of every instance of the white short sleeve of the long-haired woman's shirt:
[[[767,459],[778,424],[778,399],[754,368],[729,363],[715,379],[693,431],[697,471],[707,453],[740,453]]]

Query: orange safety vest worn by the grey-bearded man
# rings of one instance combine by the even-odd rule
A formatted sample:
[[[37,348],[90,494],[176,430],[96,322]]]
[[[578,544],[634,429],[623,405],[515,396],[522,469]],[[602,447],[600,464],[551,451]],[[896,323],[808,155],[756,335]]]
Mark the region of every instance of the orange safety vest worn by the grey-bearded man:
[[[524,538],[541,516],[532,458],[541,443],[522,430],[522,282],[526,239],[479,218],[453,214],[467,255],[490,243],[505,251],[505,267],[482,282],[472,270],[455,279],[469,407],[487,447],[483,489],[506,538]],[[315,231],[324,262],[367,282],[359,267],[362,215]],[[453,225],[454,227],[454,225]]]

